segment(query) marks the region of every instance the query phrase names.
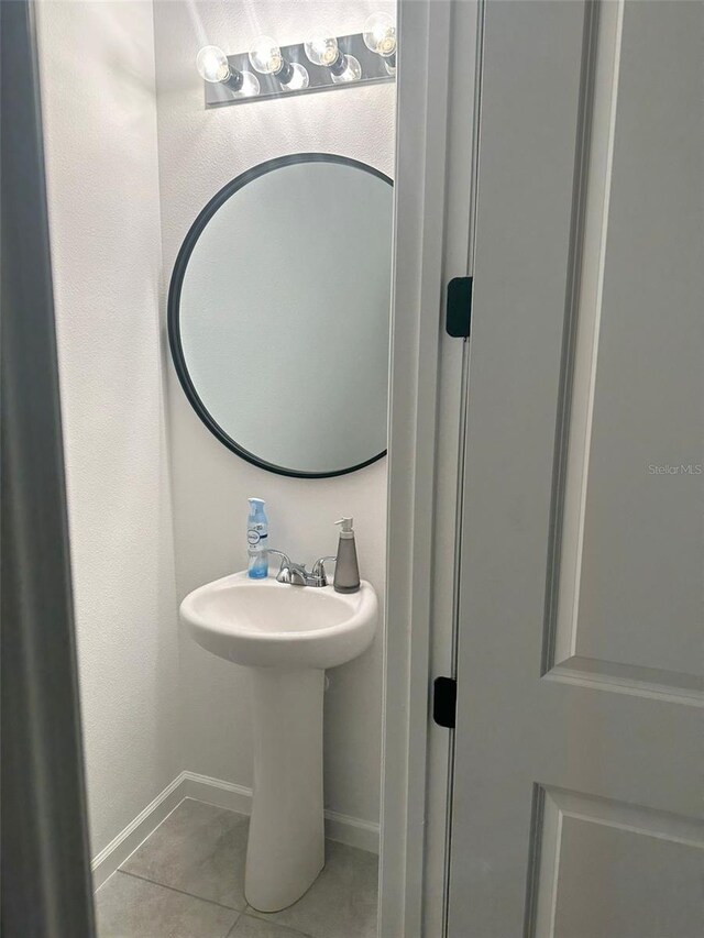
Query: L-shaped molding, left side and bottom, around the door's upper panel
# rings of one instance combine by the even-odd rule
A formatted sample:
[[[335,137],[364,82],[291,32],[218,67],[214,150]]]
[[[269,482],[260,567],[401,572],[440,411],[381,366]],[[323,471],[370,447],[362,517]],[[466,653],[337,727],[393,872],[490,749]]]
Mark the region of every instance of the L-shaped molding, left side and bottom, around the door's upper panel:
[[[541,673],[595,689],[701,707],[701,674],[585,654],[580,643],[580,629],[588,631],[580,600],[625,13],[624,0],[591,3],[586,10],[582,156],[575,167],[572,289],[561,364]],[[612,632],[619,627],[617,621],[608,625]]]

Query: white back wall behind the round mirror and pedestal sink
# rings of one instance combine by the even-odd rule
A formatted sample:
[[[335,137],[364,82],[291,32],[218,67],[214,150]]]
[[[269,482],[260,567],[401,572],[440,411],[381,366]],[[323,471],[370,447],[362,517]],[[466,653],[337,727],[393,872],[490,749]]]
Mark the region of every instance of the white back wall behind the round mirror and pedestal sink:
[[[274,35],[285,45],[304,40],[321,23],[338,35],[360,32],[369,13],[393,5],[378,0],[155,2],[166,276],[205,203],[226,183],[257,163],[287,153],[322,151],[352,156],[393,175],[393,84],[206,111],[202,85],[195,70],[198,48],[212,43],[226,52],[239,52],[260,33]],[[272,475],[238,459],[210,435],[191,411],[170,366],[168,393],[179,597],[245,565],[246,497],[257,495],[268,503],[272,545],[308,563],[320,554],[336,552],[333,522],[341,515],[353,515],[361,572],[376,586],[383,604],[385,461],[332,479]],[[327,805],[376,820],[381,637],[362,658],[331,671],[329,677]],[[245,672],[207,654],[184,637],[182,682],[186,768],[250,785]]]

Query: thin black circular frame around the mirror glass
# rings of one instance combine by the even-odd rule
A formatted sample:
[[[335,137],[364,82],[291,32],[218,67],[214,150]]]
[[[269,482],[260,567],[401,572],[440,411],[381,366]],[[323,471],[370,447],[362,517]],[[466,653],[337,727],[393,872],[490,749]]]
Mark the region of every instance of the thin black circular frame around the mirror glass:
[[[377,462],[386,455],[387,451],[383,450],[381,453],[377,453],[362,463],[358,463],[356,465],[349,466],[346,468],[336,470],[333,472],[300,472],[298,470],[285,468],[284,466],[278,466],[274,463],[267,462],[266,460],[260,459],[254,453],[251,453],[249,450],[240,446],[239,443],[226,433],[222,427],[220,427],[220,424],[213,419],[208,408],[200,399],[190,375],[188,374],[188,367],[186,365],[184,349],[180,341],[179,306],[182,285],[184,277],[186,276],[188,261],[190,260],[190,255],[204,229],[230,196],[234,195],[239,189],[242,189],[248,185],[248,183],[257,179],[260,176],[264,176],[266,173],[271,173],[273,169],[279,169],[282,166],[290,166],[297,163],[338,163],[344,166],[354,166],[358,169],[370,173],[372,176],[376,176],[378,179],[383,179],[392,187],[394,185],[393,180],[388,176],[381,173],[378,169],[375,169],[373,166],[369,166],[366,163],[361,163],[358,159],[352,159],[349,156],[338,156],[332,153],[294,153],[288,156],[277,156],[274,159],[267,159],[265,163],[260,163],[257,166],[253,166],[251,169],[248,169],[245,173],[237,176],[228,183],[227,186],[223,186],[223,188],[220,189],[220,191],[217,192],[200,211],[197,219],[188,230],[188,233],[184,239],[184,243],[178,251],[168,288],[168,344],[178,380],[180,382],[180,386],[184,389],[184,394],[186,395],[190,406],[213,437],[216,437],[224,446],[235,453],[235,455],[245,460],[248,463],[252,463],[252,465],[258,466],[267,472],[276,473],[277,475],[286,475],[294,478],[333,478],[339,475],[348,475],[348,473],[356,472],[358,470]]]

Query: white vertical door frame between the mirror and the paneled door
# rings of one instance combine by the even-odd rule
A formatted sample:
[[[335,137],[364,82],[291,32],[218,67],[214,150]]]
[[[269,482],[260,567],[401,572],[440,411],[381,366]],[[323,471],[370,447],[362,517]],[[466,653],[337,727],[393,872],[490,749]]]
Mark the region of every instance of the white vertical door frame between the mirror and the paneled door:
[[[454,673],[469,347],[444,331],[444,287],[473,266],[483,10],[484,0],[398,5],[383,938],[446,933],[453,733],[430,711],[432,677]]]

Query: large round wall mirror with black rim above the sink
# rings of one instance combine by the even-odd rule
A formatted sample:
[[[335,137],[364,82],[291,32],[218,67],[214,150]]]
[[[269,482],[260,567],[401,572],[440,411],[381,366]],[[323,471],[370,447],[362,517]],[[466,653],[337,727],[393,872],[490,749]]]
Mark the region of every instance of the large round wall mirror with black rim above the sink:
[[[272,159],[206,206],[168,333],[215,435],[271,472],[333,476],[386,452],[393,191],[354,159]]]

